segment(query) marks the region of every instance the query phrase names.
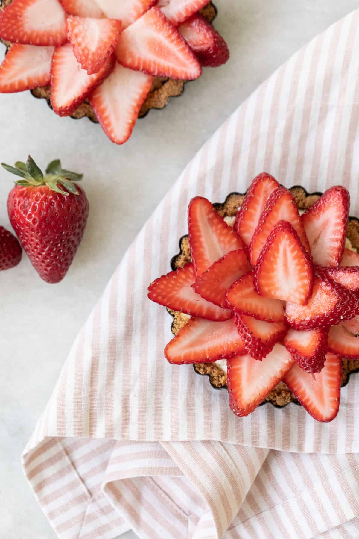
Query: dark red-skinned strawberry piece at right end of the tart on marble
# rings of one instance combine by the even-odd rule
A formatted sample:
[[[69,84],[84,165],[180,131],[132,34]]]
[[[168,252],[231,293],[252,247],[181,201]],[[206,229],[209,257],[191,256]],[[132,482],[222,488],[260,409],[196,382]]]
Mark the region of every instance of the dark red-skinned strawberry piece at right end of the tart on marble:
[[[178,27],[199,63],[203,67],[217,67],[226,64],[229,58],[228,45],[222,36],[199,13],[192,15]]]

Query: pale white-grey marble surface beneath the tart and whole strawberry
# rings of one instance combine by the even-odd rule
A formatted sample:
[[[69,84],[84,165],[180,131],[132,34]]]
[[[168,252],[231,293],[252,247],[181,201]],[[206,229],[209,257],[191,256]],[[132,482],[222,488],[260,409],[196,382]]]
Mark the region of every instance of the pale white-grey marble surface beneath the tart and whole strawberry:
[[[357,0],[215,3],[215,26],[228,41],[229,63],[205,70],[181,98],[151,111],[122,147],[87,119],[60,119],[30,93],[0,95],[0,161],[12,164],[30,153],[46,165],[61,157],[67,169],[85,173],[90,201],[85,237],[64,281],[41,281],[25,255],[19,266],[0,275],[0,537],[55,538],[27,487],[20,454],[76,334],[131,240],[227,116],[301,45],[358,5]],[[10,226],[11,186],[1,169],[0,224],[5,226]]]

